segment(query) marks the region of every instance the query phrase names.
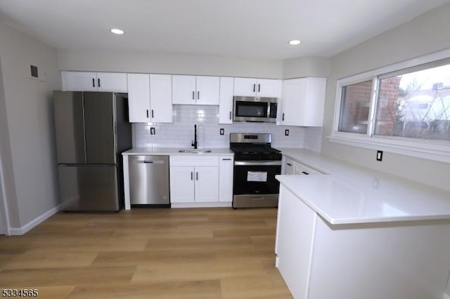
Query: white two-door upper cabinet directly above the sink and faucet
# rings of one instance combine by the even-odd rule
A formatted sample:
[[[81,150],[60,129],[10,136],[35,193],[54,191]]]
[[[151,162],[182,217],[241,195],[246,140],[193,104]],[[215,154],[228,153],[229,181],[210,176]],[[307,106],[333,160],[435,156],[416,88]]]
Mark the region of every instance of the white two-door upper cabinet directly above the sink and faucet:
[[[172,102],[181,105],[219,105],[219,77],[172,76]]]

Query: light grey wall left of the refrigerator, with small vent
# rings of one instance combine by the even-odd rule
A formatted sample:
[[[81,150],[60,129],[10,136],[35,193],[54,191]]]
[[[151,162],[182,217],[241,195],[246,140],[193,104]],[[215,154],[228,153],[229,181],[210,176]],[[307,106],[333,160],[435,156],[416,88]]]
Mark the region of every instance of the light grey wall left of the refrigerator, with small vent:
[[[3,24],[0,40],[0,161],[10,228],[20,233],[59,204],[51,94],[60,76],[55,48]],[[30,64],[45,82],[30,78]]]

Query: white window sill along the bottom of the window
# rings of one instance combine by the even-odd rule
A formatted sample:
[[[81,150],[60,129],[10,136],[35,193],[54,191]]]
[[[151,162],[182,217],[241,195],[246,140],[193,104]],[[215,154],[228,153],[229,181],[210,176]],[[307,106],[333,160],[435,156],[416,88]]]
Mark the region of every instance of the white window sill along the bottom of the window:
[[[371,150],[383,150],[395,154],[404,154],[411,157],[450,163],[450,145],[432,143],[432,141],[425,144],[425,142],[368,137],[367,135],[354,136],[352,133],[335,133],[327,138],[330,142],[336,142],[342,145],[364,147]]]

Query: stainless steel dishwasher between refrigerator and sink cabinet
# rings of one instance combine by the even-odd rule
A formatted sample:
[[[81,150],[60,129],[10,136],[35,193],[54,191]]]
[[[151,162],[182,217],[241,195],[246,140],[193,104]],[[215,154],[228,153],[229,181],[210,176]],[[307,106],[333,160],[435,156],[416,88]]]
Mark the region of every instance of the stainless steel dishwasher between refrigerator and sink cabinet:
[[[129,156],[131,205],[170,206],[169,156]]]

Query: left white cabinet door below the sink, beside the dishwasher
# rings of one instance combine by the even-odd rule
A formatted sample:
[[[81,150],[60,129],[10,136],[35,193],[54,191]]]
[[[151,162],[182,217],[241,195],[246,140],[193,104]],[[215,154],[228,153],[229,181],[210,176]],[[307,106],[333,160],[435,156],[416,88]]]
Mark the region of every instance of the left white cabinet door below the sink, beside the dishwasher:
[[[193,167],[170,167],[170,202],[194,202],[194,174]]]

